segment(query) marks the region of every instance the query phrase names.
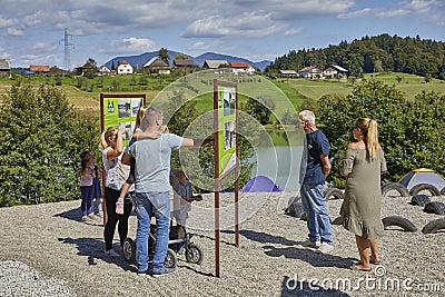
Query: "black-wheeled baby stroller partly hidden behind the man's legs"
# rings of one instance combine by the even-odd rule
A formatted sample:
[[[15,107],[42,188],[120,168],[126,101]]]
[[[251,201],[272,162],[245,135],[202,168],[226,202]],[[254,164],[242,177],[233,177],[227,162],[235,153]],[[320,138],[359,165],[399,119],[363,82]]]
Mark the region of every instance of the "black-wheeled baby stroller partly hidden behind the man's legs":
[[[178,229],[184,228],[185,238],[178,238]],[[149,261],[152,261],[155,247],[156,247],[156,225],[150,225],[150,232],[148,236],[148,255]],[[167,268],[175,268],[178,263],[178,254],[185,254],[187,263],[201,264],[202,263],[202,250],[201,248],[191,241],[192,235],[186,232],[184,226],[171,226],[170,235],[168,240],[167,256],[164,265]],[[131,238],[127,237],[123,240],[123,257],[130,264],[136,264],[136,242]]]

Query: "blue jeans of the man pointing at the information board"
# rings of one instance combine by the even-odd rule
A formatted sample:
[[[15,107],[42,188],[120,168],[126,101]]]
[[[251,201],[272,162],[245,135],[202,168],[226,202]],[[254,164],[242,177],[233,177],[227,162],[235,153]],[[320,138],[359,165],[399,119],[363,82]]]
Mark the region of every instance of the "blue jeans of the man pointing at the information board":
[[[138,227],[136,231],[136,263],[139,273],[148,270],[148,236],[151,215],[156,217],[156,249],[152,269],[157,271],[164,267],[167,256],[170,232],[170,194],[166,192],[136,192]]]

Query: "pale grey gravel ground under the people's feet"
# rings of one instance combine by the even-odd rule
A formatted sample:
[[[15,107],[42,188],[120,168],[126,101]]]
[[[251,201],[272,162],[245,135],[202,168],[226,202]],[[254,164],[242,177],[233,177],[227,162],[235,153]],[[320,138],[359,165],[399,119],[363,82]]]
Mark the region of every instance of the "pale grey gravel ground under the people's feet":
[[[346,269],[358,255],[354,236],[342,226],[333,226],[330,255],[301,247],[306,222],[283,211],[291,194],[239,198],[237,248],[230,227],[234,195],[220,196],[220,278],[215,277],[210,194],[194,205],[189,219],[202,264],[179,255],[177,273],[161,278],[138,276],[123,258],[105,256],[101,221],[81,222],[80,200],[1,208],[0,296],[445,296],[445,231],[421,231],[444,216],[422,211],[408,197],[384,198],[382,215],[403,216],[418,230],[390,227],[380,241],[383,264],[372,273]],[[432,200],[445,202],[445,197]],[[327,202],[332,219],[340,205]],[[129,236],[135,234],[131,216]],[[117,232],[115,242],[118,250]]]

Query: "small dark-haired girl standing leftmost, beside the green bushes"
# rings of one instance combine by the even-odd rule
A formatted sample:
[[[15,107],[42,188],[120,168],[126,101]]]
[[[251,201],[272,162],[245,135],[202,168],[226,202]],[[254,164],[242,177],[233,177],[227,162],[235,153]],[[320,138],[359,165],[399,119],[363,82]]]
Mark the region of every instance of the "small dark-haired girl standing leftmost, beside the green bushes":
[[[93,219],[92,214],[92,179],[96,178],[95,167],[91,162],[91,154],[82,151],[80,154],[80,195],[82,202],[80,210],[82,211],[82,221]]]

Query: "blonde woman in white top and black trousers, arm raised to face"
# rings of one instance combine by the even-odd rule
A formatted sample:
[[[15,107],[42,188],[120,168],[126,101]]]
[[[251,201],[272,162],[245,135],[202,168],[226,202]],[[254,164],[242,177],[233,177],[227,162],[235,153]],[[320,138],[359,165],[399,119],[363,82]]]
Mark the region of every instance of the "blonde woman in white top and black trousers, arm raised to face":
[[[105,225],[103,238],[106,245],[106,254],[111,257],[119,257],[112,249],[112,238],[115,236],[116,225],[118,224],[118,232],[120,246],[128,234],[128,218],[131,214],[131,201],[123,204],[123,214],[116,212],[116,202],[118,201],[120,190],[128,178],[129,166],[122,165],[120,158],[122,156],[122,131],[119,128],[110,127],[101,137],[102,164],[106,171],[105,187],[105,206],[107,208],[107,222]]]

